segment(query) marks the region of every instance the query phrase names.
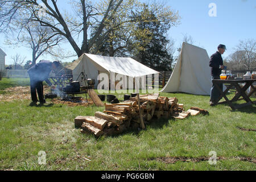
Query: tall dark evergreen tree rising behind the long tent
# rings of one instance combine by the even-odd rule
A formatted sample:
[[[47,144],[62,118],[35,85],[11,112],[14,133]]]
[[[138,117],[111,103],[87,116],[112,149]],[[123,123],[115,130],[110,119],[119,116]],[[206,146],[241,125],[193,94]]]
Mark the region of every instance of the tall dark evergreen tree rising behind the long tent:
[[[137,36],[139,46],[134,49],[133,57],[140,63],[157,71],[171,71],[173,57],[168,53],[167,45],[169,40],[166,33],[170,29],[170,23],[159,20],[153,11],[148,12],[147,6],[144,7],[141,15],[150,14],[151,21],[144,21],[138,24],[138,32],[144,31],[144,37]],[[146,40],[150,40],[148,41]]]

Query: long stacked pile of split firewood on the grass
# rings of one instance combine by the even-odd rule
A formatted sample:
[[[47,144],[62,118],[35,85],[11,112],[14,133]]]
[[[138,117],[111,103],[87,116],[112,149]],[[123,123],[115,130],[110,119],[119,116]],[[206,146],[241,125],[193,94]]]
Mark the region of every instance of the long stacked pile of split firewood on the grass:
[[[152,118],[183,119],[189,115],[208,114],[207,110],[198,107],[191,107],[188,111],[184,111],[183,104],[178,104],[176,97],[159,97],[159,94],[147,94],[139,97],[145,125],[148,125]],[[95,116],[77,116],[75,127],[81,128],[82,133],[92,133],[96,137],[121,134],[129,128],[138,129],[142,127],[138,99],[131,97],[129,101],[118,104],[105,104],[103,113],[97,111]]]

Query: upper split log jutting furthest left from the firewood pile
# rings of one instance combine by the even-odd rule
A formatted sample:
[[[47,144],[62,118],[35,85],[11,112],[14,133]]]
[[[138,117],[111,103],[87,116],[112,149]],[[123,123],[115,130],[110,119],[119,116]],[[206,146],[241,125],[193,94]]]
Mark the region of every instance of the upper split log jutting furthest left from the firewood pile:
[[[106,123],[108,123],[108,121],[105,119],[94,116],[78,116],[75,118],[75,127],[80,127],[82,125],[81,123],[84,122],[89,123],[90,125],[97,127],[100,130],[104,129]]]

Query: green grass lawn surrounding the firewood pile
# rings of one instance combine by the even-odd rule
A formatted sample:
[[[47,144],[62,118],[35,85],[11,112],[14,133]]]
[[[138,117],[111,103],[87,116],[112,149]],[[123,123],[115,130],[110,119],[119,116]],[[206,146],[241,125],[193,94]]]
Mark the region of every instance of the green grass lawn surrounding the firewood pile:
[[[3,78],[0,94],[29,79]],[[186,119],[159,119],[146,130],[129,130],[114,137],[94,138],[75,129],[78,115],[94,115],[104,107],[90,105],[28,106],[30,100],[0,101],[1,170],[255,170],[256,106],[232,111],[209,106],[209,96],[160,93],[177,97],[185,110],[209,111]],[[231,97],[231,96],[230,96]],[[120,100],[123,94],[118,94]],[[51,103],[50,100],[47,100]],[[239,101],[242,102],[242,101]],[[38,152],[46,164],[38,164]],[[208,162],[216,151],[217,164]],[[86,160],[89,159],[89,160]]]

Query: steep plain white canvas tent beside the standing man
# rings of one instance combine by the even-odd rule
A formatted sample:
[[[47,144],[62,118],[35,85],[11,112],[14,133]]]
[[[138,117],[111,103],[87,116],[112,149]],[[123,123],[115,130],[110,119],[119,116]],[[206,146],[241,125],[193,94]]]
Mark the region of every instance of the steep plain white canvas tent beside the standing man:
[[[174,71],[160,92],[210,95],[212,81],[209,61],[205,49],[183,43]]]

